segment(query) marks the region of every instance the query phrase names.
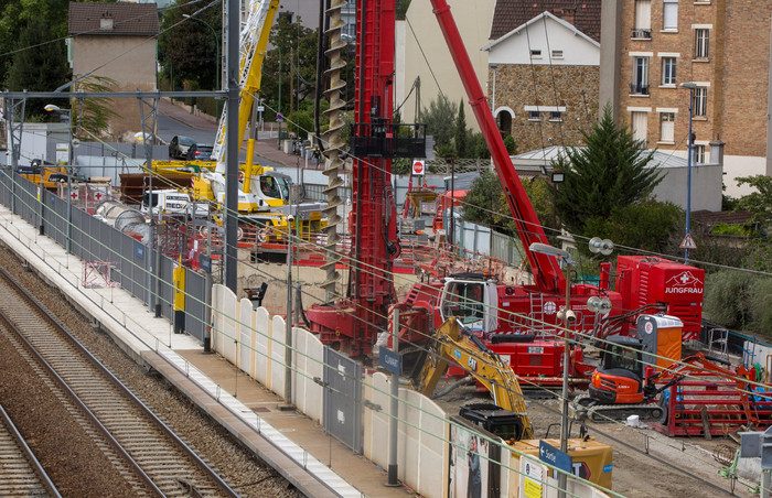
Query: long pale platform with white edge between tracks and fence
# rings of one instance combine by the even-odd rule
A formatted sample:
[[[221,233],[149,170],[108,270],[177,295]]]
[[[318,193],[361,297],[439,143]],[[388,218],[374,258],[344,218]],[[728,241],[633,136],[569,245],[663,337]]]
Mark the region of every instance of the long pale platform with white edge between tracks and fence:
[[[384,486],[386,473],[298,413],[279,410],[282,399],[249,379],[217,354],[148,305],[117,288],[85,289],[83,261],[67,255],[0,205],[0,240],[44,280],[99,324],[137,361],[156,369],[214,420],[313,497],[414,496],[406,487]]]

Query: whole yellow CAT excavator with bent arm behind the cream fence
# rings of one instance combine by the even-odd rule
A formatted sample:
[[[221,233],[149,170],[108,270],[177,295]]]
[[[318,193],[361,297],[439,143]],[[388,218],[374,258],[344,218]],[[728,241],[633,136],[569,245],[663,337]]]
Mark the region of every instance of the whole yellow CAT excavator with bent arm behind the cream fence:
[[[538,457],[539,440],[534,440],[534,427],[526,411],[523,390],[512,367],[485,347],[471,331],[467,332],[454,317],[437,329],[423,360],[416,367],[410,386],[425,396],[431,396],[449,364],[467,370],[485,386],[495,405],[473,404],[462,408],[460,414],[510,444],[513,457],[528,454]],[[420,368],[419,368],[420,367]],[[557,440],[544,440],[555,447]],[[568,440],[568,454],[573,458],[573,473],[605,488],[611,488],[612,450],[591,437]]]

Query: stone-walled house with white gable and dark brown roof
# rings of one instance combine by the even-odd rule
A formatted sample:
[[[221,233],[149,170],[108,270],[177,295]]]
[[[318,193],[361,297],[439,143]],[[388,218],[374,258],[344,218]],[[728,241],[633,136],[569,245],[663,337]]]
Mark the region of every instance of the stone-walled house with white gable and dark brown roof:
[[[487,98],[518,152],[580,145],[598,117],[600,0],[498,0]]]

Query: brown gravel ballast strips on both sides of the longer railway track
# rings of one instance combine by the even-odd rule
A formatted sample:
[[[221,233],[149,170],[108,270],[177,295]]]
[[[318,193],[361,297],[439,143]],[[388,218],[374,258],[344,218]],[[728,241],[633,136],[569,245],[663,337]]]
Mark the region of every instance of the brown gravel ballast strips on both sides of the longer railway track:
[[[7,248],[2,248],[7,249]],[[25,271],[22,261],[17,259],[9,250],[0,250],[0,267],[4,268],[17,281],[21,282],[31,294],[57,316],[60,322],[78,339],[86,345],[103,364],[124,383],[129,386],[135,394],[150,407],[164,423],[211,466],[218,469],[224,479],[245,497],[300,497],[303,496],[271,467],[246,450],[219,424],[212,421],[201,412],[187,398],[170,388],[160,376],[148,374],[130,358],[128,358],[114,343],[104,335],[97,333],[85,316],[78,313],[60,293],[39,279],[34,273]],[[60,461],[63,465],[62,473],[68,475],[65,481],[72,488],[67,496],[129,496],[126,489],[120,487],[115,492],[108,491],[105,483],[117,479],[108,478],[105,473],[88,473],[96,475],[98,481],[89,481],[84,477],[81,467],[106,468],[104,455],[89,443],[81,430],[69,430],[65,425],[66,416],[63,409],[56,407],[55,399],[45,396],[46,388],[42,388],[36,376],[19,375],[21,367],[14,368],[14,364],[6,355],[10,346],[6,340],[0,342],[0,355],[3,357],[2,371],[0,371],[0,403],[15,399],[15,411],[29,420],[30,427],[37,426],[39,434],[51,435],[57,433],[57,437],[39,437],[45,441],[39,451],[43,453],[39,458],[52,462]],[[19,360],[21,361],[21,360]],[[15,374],[14,374],[15,372]],[[50,392],[50,391],[49,391]],[[51,398],[51,400],[49,400]],[[7,408],[8,409],[8,408]],[[78,434],[79,433],[79,434]],[[101,474],[101,477],[100,477]],[[57,485],[62,486],[58,481]]]

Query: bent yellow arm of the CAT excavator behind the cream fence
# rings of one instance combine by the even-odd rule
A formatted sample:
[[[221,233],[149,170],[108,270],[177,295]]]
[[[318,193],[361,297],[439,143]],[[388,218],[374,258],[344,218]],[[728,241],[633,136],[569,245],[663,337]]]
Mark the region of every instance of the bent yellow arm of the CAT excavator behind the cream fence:
[[[417,380],[411,381],[414,389],[431,396],[448,364],[453,362],[485,386],[494,403],[521,415],[523,439],[534,436],[517,376],[475,335],[464,333],[454,317],[448,318],[437,329],[429,349]]]

